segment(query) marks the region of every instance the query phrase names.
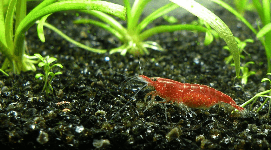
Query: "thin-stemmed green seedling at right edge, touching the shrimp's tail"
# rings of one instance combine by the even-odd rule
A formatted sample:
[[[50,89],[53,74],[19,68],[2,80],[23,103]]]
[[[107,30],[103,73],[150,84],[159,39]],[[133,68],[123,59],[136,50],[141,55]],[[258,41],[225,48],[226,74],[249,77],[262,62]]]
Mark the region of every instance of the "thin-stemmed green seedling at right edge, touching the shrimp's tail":
[[[266,75],[271,75],[271,73],[267,73]],[[267,116],[269,117],[269,113],[270,113],[270,105],[271,105],[271,80],[268,78],[263,78],[261,82],[264,81],[269,81],[270,83],[270,89],[266,90],[266,91],[262,91],[260,93],[257,93],[253,98],[249,99],[248,101],[246,101],[245,103],[241,104],[241,107],[245,107],[246,105],[248,105],[249,103],[252,102],[251,106],[250,106],[250,110],[252,109],[253,104],[257,101],[257,98],[259,97],[264,97],[266,98],[265,101],[263,102],[263,104],[261,104],[261,106],[256,110],[256,112],[259,112],[262,108],[263,105],[266,104],[267,101],[269,101],[269,107],[268,107],[268,113]],[[237,109],[233,110],[232,113],[234,111],[238,111]]]

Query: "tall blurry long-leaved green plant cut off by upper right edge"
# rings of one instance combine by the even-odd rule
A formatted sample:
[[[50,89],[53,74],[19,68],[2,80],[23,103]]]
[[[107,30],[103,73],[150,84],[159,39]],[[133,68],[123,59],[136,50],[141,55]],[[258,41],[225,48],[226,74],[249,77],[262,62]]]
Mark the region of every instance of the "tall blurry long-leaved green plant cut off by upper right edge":
[[[238,19],[240,19],[248,28],[260,39],[264,46],[267,57],[267,72],[271,72],[271,12],[269,0],[252,0],[252,4],[256,9],[262,23],[262,27],[258,26],[258,31],[253,28],[251,23],[246,20],[242,14],[236,11],[234,8],[223,2],[222,0],[211,0],[233,13]],[[245,0],[242,0],[245,1]],[[243,6],[242,6],[243,7]]]

